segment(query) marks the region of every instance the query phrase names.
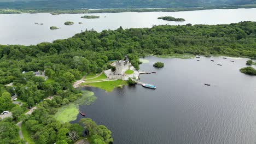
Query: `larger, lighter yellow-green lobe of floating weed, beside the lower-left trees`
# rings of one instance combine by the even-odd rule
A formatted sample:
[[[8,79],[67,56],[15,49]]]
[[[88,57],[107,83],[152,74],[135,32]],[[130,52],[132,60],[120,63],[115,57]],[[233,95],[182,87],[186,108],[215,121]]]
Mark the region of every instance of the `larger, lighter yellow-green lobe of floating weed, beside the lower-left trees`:
[[[74,121],[75,119],[77,119],[78,113],[79,113],[78,105],[69,104],[69,105],[60,107],[57,113],[54,115],[54,118],[61,123],[66,123],[66,122]]]

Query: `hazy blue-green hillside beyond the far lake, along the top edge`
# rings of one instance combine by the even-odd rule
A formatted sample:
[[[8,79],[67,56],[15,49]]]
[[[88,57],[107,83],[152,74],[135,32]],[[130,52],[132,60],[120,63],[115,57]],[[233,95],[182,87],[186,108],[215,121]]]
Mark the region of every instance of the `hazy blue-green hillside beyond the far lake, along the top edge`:
[[[0,9],[176,8],[255,3],[256,0],[0,0]]]

